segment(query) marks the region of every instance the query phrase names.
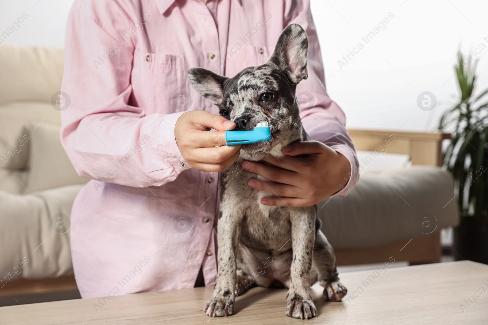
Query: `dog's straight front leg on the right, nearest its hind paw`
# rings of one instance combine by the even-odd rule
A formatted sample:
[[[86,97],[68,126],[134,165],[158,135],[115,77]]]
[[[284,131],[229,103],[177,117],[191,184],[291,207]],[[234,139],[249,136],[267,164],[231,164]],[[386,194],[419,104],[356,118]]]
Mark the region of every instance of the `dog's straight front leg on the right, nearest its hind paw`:
[[[310,268],[315,239],[315,207],[297,209],[291,213],[291,240],[293,261],[290,270],[290,288],[286,294],[286,316],[308,319],[317,315],[310,296]]]

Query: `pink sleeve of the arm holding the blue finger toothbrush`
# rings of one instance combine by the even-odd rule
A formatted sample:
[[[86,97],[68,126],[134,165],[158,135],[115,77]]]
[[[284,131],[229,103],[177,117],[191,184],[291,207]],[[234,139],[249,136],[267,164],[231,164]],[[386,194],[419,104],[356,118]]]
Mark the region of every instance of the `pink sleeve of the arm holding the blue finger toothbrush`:
[[[188,168],[174,137],[183,112],[146,115],[129,105],[137,35],[124,43],[118,35],[134,19],[117,1],[101,2],[76,1],[68,18],[61,95],[70,105],[61,112],[61,143],[82,177],[160,186]]]

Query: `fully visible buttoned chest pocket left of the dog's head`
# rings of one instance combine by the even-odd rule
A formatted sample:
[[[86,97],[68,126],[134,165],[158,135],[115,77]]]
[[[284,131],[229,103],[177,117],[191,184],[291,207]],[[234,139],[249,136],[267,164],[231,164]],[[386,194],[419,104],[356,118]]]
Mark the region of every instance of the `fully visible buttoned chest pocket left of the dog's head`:
[[[134,53],[132,87],[147,114],[184,112],[193,105],[185,59],[181,55]]]

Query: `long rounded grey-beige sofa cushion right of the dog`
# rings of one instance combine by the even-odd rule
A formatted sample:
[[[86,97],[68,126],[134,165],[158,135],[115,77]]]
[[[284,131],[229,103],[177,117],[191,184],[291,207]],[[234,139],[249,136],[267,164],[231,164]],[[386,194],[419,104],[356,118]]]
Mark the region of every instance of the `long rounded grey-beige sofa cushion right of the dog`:
[[[319,203],[317,215],[332,247],[368,248],[456,226],[457,209],[449,172],[412,166],[361,173],[347,196]]]

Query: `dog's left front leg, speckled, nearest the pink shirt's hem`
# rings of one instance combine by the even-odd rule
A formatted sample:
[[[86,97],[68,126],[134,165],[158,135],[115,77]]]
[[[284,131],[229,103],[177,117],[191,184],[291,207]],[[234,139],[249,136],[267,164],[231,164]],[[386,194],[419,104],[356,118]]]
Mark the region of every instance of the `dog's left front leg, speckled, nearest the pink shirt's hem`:
[[[236,292],[236,249],[239,245],[239,235],[243,211],[237,207],[221,205],[221,216],[217,226],[217,242],[219,247],[217,257],[217,284],[208,303],[203,308],[208,316],[230,316],[234,312]]]

